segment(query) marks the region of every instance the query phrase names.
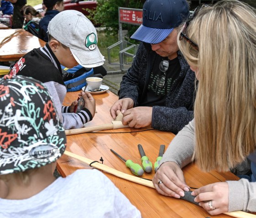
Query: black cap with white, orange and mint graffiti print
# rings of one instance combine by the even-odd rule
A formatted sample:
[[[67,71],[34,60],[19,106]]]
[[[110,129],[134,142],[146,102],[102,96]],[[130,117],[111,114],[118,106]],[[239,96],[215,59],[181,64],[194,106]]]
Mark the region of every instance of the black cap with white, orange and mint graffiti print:
[[[26,76],[0,78],[0,174],[55,162],[66,136],[43,83]]]

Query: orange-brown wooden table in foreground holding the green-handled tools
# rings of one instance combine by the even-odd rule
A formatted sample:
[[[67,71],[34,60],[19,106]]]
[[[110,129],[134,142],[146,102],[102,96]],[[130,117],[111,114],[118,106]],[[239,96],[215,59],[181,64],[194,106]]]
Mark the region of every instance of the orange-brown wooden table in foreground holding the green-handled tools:
[[[79,92],[68,92],[64,104],[70,105],[70,103],[77,98],[78,93]],[[94,95],[94,97],[96,99],[97,113],[93,120],[87,123],[86,126],[110,123],[112,117],[110,116],[109,109],[112,104],[117,101],[117,96],[112,92],[107,91],[106,93]],[[136,132],[149,128],[150,127],[143,129],[123,128],[101,131],[108,133],[83,133],[70,135],[67,136],[66,150],[96,161],[99,161],[102,157],[105,165],[133,175],[125,166],[125,163],[110,151],[110,148],[125,159],[131,159],[133,162],[141,163],[137,147],[138,144],[141,144],[146,155],[149,157],[149,160],[154,164],[156,157],[158,156],[160,145],[165,144],[166,149],[175,135],[171,132],[161,132],[157,130]],[[57,168],[64,177],[77,169],[91,168],[89,165],[66,155],[63,155],[57,163]],[[127,196],[131,203],[140,210],[144,218],[211,217],[203,208],[193,203],[181,199],[165,197],[158,194],[153,188],[129,182],[108,173],[105,174],[120,189],[120,191]],[[142,177],[152,179],[154,175],[155,172],[145,172]],[[194,164],[190,164],[184,168],[184,175],[187,184],[195,188],[219,181],[237,180],[238,178],[231,172],[201,172]],[[90,178],[88,178],[88,181],[85,181],[85,183],[87,182],[90,182]],[[214,217],[230,218],[224,214]]]

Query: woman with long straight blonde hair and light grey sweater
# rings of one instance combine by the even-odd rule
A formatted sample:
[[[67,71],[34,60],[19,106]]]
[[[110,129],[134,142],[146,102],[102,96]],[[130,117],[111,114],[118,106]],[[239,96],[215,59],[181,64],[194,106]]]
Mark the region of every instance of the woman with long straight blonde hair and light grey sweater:
[[[163,195],[188,191],[181,168],[192,159],[204,171],[228,171],[251,160],[247,179],[213,183],[192,192],[211,215],[256,212],[256,13],[237,0],[197,8],[178,45],[199,86],[195,118],[172,140],[153,183]]]

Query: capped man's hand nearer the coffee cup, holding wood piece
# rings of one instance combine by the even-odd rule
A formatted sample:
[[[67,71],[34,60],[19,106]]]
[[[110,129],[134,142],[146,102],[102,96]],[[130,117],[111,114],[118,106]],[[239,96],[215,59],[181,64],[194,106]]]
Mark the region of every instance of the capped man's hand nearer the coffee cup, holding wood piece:
[[[110,114],[113,119],[116,119],[117,112],[121,111],[123,114],[125,111],[127,111],[130,108],[133,108],[134,102],[131,98],[122,98],[116,101],[112,107],[110,108]]]

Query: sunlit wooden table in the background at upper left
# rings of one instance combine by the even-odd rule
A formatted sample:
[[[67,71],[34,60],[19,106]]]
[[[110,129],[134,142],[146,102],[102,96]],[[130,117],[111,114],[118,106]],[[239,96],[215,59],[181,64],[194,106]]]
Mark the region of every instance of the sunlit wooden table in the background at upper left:
[[[16,32],[21,30],[19,32]],[[0,44],[0,61],[16,61],[34,48],[43,47],[45,41],[37,38],[26,30],[0,30],[0,42],[16,32],[11,38]]]

